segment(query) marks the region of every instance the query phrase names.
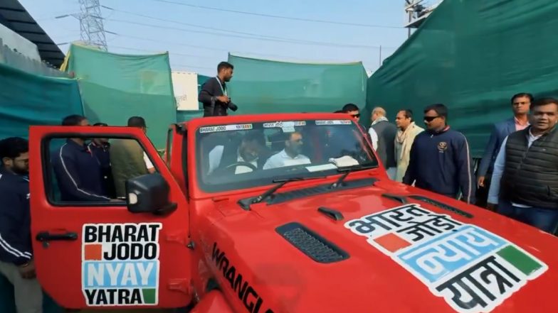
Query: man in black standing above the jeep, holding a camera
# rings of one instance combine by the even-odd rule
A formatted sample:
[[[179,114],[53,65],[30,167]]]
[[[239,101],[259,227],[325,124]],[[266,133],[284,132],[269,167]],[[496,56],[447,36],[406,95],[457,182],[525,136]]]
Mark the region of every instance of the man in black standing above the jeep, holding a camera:
[[[228,97],[226,82],[233,78],[233,65],[228,62],[221,62],[217,67],[217,77],[210,78],[201,86],[199,101],[204,104],[204,117],[206,116],[226,116],[227,109],[236,111],[238,106],[233,104]]]

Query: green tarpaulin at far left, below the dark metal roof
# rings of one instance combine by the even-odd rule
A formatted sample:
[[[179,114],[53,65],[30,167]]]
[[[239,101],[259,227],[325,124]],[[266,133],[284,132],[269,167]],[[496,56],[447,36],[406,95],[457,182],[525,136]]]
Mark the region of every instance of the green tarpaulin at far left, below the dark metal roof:
[[[0,64],[0,138],[28,137],[31,125],[60,125],[83,114],[75,79],[33,75]]]

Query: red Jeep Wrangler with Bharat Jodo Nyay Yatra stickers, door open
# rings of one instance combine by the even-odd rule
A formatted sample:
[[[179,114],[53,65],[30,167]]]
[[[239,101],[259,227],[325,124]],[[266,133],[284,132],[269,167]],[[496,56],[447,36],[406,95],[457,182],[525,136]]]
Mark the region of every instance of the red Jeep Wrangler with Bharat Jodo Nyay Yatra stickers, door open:
[[[75,137],[136,141],[157,172],[63,202],[51,153]],[[349,116],[194,119],[166,160],[135,128],[30,141],[38,279],[66,308],[556,312],[557,238],[389,180]]]

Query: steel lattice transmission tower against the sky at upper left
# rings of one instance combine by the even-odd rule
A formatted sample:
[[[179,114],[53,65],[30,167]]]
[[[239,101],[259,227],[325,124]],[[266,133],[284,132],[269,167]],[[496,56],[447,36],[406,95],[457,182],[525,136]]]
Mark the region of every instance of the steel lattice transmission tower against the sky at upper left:
[[[101,6],[99,0],[79,0],[80,37],[84,43],[94,45],[107,51],[107,36],[102,25]]]

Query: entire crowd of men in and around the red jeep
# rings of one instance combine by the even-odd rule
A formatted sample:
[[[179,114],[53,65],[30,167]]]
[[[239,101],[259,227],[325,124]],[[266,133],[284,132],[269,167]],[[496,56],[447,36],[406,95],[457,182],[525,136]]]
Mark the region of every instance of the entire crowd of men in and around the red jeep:
[[[236,107],[226,96],[225,82],[232,72],[232,65],[220,65],[219,76],[202,89],[209,103],[207,116],[215,111],[226,114]],[[512,97],[511,107],[513,116],[495,123],[477,175],[467,138],[449,126],[448,108],[443,104],[423,110],[426,128],[416,124],[410,109],[398,111],[391,123],[385,109],[374,108],[369,127],[359,123],[355,104],[347,104],[337,113],[349,114],[362,128],[391,180],[461,199],[554,234],[558,228],[558,100],[535,100],[531,94],[521,93]],[[62,125],[90,123],[84,116],[72,115]],[[131,117],[127,126],[147,130],[139,116]],[[209,153],[209,172],[223,158],[235,155],[258,168],[280,167],[288,158],[309,162],[300,153],[298,133],[290,136],[283,154],[265,163],[253,158],[253,143],[260,141],[244,138],[241,155],[215,147]],[[42,312],[31,248],[28,141],[17,137],[0,141],[0,159],[0,274],[14,285],[18,312]],[[129,139],[109,143],[106,138],[68,138],[53,151],[51,163],[64,202],[120,201],[125,197],[127,179],[155,171],[141,145]]]

